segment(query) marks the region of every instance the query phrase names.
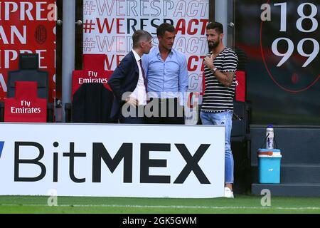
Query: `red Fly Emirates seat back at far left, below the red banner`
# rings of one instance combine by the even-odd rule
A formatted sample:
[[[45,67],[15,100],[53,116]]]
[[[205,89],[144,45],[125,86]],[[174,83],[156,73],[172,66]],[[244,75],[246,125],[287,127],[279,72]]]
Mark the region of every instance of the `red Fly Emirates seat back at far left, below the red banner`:
[[[5,122],[46,123],[47,100],[38,98],[37,83],[16,81],[14,98],[4,100]]]

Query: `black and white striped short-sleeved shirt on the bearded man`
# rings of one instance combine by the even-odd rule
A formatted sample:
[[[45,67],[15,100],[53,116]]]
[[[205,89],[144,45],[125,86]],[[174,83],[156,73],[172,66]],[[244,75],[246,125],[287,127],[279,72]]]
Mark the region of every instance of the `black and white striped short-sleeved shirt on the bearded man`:
[[[208,53],[210,56],[212,52]],[[225,48],[213,61],[213,64],[221,72],[235,72],[238,65],[238,57],[235,52],[230,48]],[[233,110],[233,97],[235,96],[235,76],[233,83],[229,88],[223,86],[218,81],[210,69],[205,66],[204,68],[206,78],[206,88],[203,95],[201,111],[209,113],[219,113],[225,110]]]

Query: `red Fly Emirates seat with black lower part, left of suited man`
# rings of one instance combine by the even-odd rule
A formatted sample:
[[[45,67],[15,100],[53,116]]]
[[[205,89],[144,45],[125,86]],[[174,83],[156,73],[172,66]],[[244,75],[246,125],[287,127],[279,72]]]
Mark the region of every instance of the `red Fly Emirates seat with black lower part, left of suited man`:
[[[83,69],[73,71],[71,100],[65,105],[66,122],[113,123],[114,95],[108,84],[113,71],[105,71],[105,54],[84,54]]]

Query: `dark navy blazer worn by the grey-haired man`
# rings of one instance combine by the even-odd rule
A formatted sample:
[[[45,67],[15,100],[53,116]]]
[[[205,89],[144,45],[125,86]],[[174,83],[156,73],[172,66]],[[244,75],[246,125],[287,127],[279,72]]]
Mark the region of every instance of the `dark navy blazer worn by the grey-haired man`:
[[[114,108],[119,110],[122,107],[129,93],[123,99],[122,95],[126,92],[132,92],[137,87],[138,80],[139,68],[134,53],[130,51],[127,56],[124,56],[108,81],[116,97],[114,100],[116,107]]]

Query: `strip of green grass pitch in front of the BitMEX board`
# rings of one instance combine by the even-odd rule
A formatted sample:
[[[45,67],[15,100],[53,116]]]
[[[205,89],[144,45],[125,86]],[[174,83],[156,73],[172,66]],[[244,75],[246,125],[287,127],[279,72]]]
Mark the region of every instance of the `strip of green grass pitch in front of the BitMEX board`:
[[[320,214],[320,197],[271,197],[270,206],[262,206],[262,196],[251,195],[236,195],[235,199],[57,197],[56,206],[48,206],[48,199],[0,196],[0,213]]]

